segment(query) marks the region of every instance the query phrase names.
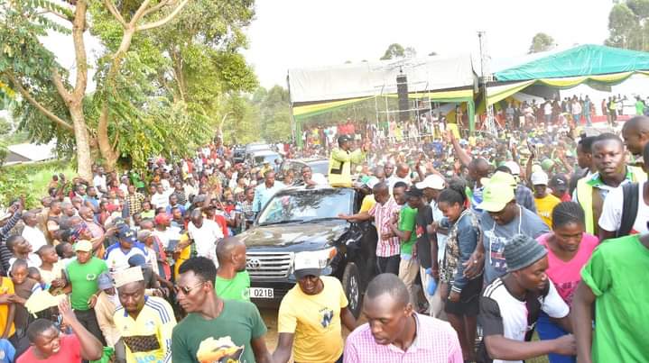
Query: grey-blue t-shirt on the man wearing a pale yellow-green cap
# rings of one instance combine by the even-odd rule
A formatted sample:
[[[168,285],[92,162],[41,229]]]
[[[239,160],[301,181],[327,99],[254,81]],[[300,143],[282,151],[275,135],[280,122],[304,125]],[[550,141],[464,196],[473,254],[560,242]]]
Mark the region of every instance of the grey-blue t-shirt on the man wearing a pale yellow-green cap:
[[[482,213],[480,224],[484,232],[482,243],[485,247],[485,282],[487,284],[507,272],[505,244],[512,240],[516,234],[524,234],[535,239],[550,231],[538,215],[520,205],[518,208],[520,208],[520,213],[505,225],[497,224],[489,213]]]

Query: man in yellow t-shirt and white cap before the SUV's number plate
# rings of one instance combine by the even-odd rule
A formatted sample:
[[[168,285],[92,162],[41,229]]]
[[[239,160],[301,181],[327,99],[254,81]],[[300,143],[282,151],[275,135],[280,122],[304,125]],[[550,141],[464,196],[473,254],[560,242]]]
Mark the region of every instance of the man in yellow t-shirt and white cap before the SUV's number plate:
[[[296,258],[298,283],[283,297],[277,319],[279,341],[275,362],[333,363],[343,352],[341,322],[349,331],[356,319],[348,310],[348,299],[336,277],[320,277],[317,256]]]

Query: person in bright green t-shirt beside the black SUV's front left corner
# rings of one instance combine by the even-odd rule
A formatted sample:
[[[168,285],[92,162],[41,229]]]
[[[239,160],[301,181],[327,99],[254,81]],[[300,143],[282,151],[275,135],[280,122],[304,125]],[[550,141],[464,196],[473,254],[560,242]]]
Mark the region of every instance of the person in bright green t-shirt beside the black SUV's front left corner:
[[[227,238],[217,245],[218,270],[214,283],[218,297],[250,301],[250,276],[246,271],[246,245]]]

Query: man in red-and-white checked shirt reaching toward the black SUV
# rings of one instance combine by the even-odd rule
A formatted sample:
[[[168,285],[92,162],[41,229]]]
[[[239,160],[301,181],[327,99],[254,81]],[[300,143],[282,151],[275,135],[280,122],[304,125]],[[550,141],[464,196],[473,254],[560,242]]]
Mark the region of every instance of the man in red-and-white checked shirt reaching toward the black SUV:
[[[374,218],[378,243],[376,243],[376,268],[379,274],[399,273],[399,237],[392,233],[392,224],[399,217],[401,206],[396,204],[385,183],[378,183],[372,188],[376,204],[368,211],[357,214],[340,214],[338,217],[347,221],[368,221]]]

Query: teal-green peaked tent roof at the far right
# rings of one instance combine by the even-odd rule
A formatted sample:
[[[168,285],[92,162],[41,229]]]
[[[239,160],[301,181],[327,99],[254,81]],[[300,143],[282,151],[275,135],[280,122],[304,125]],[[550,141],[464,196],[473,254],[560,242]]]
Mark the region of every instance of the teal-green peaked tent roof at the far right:
[[[499,81],[578,77],[649,70],[649,52],[585,44],[496,71]]]

